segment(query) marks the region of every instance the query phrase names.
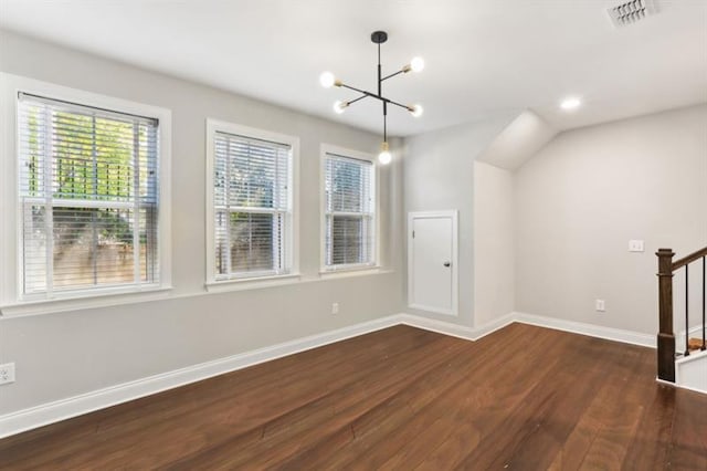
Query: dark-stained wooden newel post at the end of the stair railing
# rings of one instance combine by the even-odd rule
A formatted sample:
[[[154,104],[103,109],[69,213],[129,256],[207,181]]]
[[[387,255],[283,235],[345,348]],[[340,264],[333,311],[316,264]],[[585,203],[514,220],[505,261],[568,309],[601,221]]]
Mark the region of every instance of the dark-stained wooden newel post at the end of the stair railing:
[[[658,379],[675,383],[675,334],[673,333],[672,249],[658,249]]]

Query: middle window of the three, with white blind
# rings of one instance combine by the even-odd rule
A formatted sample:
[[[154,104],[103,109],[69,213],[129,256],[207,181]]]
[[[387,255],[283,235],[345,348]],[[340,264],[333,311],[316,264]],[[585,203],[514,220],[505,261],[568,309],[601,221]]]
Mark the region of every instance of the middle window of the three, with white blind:
[[[208,122],[210,282],[293,273],[297,139]]]

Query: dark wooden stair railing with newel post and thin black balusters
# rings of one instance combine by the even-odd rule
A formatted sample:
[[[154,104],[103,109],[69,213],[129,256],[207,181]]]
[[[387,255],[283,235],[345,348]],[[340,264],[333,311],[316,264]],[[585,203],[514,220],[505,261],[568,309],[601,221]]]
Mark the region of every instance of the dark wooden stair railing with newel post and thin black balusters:
[[[675,383],[675,333],[673,332],[673,274],[685,269],[685,356],[689,356],[689,264],[701,259],[703,272],[703,313],[701,346],[707,349],[705,338],[705,280],[707,275],[707,247],[687,257],[673,261],[672,249],[658,249],[658,315],[659,332],[657,338],[658,379]]]

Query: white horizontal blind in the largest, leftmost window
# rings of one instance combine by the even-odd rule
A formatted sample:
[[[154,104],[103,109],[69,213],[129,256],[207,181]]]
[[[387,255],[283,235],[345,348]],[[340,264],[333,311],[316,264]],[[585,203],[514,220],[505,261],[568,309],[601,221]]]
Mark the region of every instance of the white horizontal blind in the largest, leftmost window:
[[[22,292],[159,282],[158,122],[18,95]]]

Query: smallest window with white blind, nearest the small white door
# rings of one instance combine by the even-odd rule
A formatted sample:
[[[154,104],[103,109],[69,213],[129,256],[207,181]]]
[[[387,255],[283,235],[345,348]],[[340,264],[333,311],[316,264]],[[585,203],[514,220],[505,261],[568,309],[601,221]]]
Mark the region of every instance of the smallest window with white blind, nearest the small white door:
[[[376,265],[376,167],[368,156],[325,150],[325,271]]]

